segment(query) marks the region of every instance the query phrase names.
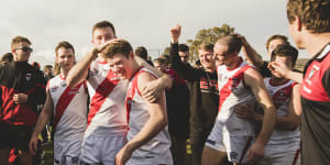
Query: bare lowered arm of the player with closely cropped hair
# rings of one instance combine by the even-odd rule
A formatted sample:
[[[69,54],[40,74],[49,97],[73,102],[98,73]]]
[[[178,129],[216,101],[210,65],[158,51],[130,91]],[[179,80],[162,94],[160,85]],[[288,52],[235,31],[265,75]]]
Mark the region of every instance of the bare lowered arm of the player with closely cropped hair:
[[[252,161],[257,157],[263,157],[265,154],[264,146],[273,133],[276,122],[276,110],[262,76],[255,69],[250,68],[245,72],[244,81],[252,89],[257,102],[264,109],[261,132],[248,154],[248,161]]]

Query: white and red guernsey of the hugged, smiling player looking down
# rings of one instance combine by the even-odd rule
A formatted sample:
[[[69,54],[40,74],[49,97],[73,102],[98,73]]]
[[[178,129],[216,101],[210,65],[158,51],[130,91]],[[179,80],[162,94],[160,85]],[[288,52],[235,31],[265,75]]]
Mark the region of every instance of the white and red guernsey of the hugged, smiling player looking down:
[[[138,77],[141,73],[150,73],[157,77],[153,72],[142,67],[135,73],[131,79],[128,88],[125,105],[128,111],[129,132],[128,140],[132,140],[144,127],[148,120],[146,101],[142,98],[138,89]],[[147,143],[133,152],[134,157],[147,157],[152,155],[165,154],[170,146],[170,138],[167,127],[163,129],[157,135],[151,139]]]

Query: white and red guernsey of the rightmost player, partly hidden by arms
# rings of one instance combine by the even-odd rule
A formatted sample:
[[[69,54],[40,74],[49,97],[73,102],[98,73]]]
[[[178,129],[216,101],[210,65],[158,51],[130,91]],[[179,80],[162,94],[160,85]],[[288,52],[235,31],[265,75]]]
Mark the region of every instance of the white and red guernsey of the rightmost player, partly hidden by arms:
[[[285,117],[288,114],[288,107],[292,90],[296,82],[287,80],[282,85],[272,85],[271,78],[264,79],[265,86],[276,107],[277,116]],[[268,152],[296,151],[300,144],[299,128],[295,130],[274,129],[272,136],[266,145]],[[268,150],[267,150],[268,148]]]

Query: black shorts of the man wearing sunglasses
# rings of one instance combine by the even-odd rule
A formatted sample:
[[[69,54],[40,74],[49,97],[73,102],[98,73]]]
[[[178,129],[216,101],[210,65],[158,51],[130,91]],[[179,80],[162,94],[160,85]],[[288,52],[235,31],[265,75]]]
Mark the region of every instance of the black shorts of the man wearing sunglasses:
[[[0,150],[14,147],[23,152],[29,151],[32,131],[33,127],[11,125],[6,122],[0,122]]]

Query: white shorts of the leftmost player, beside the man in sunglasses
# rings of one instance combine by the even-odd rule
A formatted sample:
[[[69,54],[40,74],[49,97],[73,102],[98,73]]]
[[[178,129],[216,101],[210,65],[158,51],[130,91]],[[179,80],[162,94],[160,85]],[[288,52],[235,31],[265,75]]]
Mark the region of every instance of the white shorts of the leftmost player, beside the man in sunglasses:
[[[78,165],[81,151],[81,141],[54,142],[54,165]]]

